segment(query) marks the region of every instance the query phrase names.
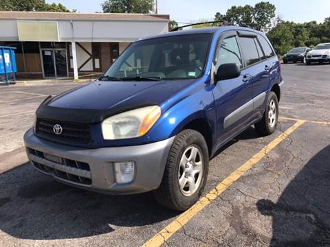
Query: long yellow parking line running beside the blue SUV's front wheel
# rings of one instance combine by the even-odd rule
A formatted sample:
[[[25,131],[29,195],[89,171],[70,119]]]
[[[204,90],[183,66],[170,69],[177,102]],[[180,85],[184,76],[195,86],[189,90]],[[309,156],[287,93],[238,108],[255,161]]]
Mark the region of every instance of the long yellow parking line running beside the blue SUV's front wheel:
[[[198,202],[196,202],[190,209],[179,215],[173,222],[168,224],[162,231],[159,231],[153,238],[148,240],[143,246],[151,247],[151,246],[162,246],[167,239],[169,239],[174,233],[179,231],[182,226],[184,226],[189,220],[192,219],[197,213],[199,213],[204,207],[206,207],[210,202],[215,200],[225,189],[230,187],[232,183],[241,178],[245,172],[247,172],[253,165],[256,165],[263,156],[268,154],[271,150],[273,150],[276,145],[281,143],[289,134],[294,132],[297,128],[299,128],[305,121],[298,120],[296,123],[285,130],[282,134],[280,134],[274,141],[270,142],[265,146],[259,153],[255,154],[249,161],[247,161],[244,165],[236,169],[230,176],[225,178],[217,187],[212,189],[212,191],[208,192],[206,196],[201,198]]]

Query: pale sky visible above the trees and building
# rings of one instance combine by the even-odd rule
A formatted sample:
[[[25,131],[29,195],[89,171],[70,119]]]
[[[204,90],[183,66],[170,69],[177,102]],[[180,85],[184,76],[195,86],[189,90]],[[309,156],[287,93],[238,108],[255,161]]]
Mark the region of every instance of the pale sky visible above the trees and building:
[[[46,0],[47,3],[62,3],[69,10],[78,12],[102,12],[105,0]],[[225,12],[232,5],[254,5],[262,0],[158,0],[158,13],[170,14],[170,19],[179,23],[211,20],[216,12]],[[323,22],[330,17],[330,0],[263,0],[276,5],[276,15],[285,21],[303,23]]]

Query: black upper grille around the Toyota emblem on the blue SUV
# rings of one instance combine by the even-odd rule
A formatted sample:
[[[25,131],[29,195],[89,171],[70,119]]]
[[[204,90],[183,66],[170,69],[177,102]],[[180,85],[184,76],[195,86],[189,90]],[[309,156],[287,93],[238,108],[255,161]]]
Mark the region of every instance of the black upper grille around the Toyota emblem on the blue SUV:
[[[55,134],[54,126],[62,127],[61,134]],[[89,124],[78,124],[67,121],[40,119],[36,121],[36,135],[51,141],[72,144],[88,144],[91,142],[91,128]]]

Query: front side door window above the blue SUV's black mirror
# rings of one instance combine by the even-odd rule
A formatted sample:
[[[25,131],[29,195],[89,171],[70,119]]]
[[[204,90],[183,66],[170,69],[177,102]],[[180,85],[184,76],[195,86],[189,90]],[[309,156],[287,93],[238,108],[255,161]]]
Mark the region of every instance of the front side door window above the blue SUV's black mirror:
[[[238,64],[239,67],[243,67],[239,45],[235,36],[225,38],[218,49],[219,51],[215,65],[216,71],[220,65],[228,63],[235,63]]]

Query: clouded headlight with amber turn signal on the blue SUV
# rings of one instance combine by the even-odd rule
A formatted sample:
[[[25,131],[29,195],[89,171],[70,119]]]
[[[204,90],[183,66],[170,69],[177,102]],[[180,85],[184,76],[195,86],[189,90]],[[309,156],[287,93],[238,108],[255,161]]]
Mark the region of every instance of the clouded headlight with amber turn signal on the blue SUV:
[[[159,119],[159,106],[147,106],[109,117],[102,122],[104,140],[142,137]]]

